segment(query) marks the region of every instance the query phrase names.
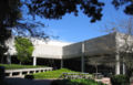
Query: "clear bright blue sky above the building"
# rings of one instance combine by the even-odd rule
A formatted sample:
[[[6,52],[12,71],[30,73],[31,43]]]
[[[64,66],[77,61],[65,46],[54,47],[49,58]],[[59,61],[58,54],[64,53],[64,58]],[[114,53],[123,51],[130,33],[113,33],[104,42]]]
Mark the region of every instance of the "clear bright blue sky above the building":
[[[96,21],[95,23],[91,23],[90,18],[84,15],[81,11],[79,17],[65,14],[61,20],[47,20],[41,18],[38,18],[38,20],[48,25],[44,28],[48,34],[59,36],[53,40],[80,42],[93,39],[108,34],[105,29],[114,28],[115,24],[119,24],[117,22],[129,18],[129,15],[124,14],[122,11],[123,8],[115,10],[110,1],[111,0],[105,0],[105,6],[102,11],[103,17],[101,21]]]

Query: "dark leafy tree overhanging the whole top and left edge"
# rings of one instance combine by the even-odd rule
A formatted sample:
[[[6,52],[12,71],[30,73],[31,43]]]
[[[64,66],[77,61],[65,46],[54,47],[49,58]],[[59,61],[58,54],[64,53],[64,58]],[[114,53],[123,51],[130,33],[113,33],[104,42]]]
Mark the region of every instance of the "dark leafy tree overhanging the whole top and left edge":
[[[124,10],[127,14],[133,14],[132,0],[112,0],[112,3],[119,8],[129,3]],[[100,0],[0,0],[0,56],[7,51],[4,41],[11,36],[11,30],[17,29],[18,33],[30,33],[32,36],[48,38],[44,32],[38,31],[40,22],[30,23],[23,19],[22,6],[28,8],[28,14],[35,19],[35,15],[45,19],[61,19],[66,13],[78,15],[79,8],[91,18],[91,22],[101,20],[104,2]]]

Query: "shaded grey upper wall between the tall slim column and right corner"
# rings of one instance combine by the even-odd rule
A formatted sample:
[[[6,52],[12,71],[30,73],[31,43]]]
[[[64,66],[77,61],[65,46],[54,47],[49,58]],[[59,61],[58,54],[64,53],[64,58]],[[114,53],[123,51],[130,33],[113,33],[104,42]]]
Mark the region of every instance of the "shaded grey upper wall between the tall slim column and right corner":
[[[115,33],[84,41],[85,55],[111,54],[115,52]]]

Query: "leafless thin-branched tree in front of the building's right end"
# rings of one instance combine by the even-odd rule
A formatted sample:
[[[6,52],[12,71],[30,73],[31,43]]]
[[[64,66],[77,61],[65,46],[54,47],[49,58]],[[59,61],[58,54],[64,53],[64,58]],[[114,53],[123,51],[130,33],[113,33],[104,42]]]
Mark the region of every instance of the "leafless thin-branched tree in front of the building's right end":
[[[111,30],[113,30],[112,32],[119,33],[116,38],[116,49],[120,53],[119,62],[123,63],[123,74],[130,78],[133,74],[133,18],[131,17],[129,20],[120,21]]]

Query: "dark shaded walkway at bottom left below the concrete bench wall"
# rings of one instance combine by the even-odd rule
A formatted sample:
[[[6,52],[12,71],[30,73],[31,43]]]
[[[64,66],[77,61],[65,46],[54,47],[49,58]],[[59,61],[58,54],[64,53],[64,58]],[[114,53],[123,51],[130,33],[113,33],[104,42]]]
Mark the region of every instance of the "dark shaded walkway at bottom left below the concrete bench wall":
[[[50,85],[53,79],[25,79],[19,77],[6,78],[10,85]]]

